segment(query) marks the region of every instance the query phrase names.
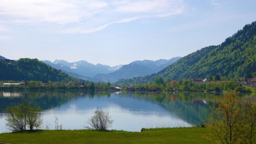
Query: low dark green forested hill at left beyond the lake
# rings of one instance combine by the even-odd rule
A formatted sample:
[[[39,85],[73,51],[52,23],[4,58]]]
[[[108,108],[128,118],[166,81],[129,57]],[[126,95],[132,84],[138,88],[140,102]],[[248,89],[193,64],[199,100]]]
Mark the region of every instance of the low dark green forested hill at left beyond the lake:
[[[0,59],[0,80],[75,80],[38,59],[21,58],[17,61]]]

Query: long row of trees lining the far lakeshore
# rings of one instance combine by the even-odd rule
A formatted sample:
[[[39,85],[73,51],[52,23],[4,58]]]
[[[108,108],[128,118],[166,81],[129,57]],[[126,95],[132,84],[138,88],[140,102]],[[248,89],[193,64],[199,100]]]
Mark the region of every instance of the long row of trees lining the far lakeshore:
[[[218,76],[216,76],[218,77]],[[19,81],[0,81],[0,86],[3,83],[19,83]],[[82,80],[81,82],[74,82],[74,81],[50,81],[48,80],[46,83],[42,83],[42,81],[21,81],[22,86],[17,88],[31,88],[31,89],[83,89],[83,90],[110,90],[111,84],[108,83],[94,83],[93,81]],[[114,86],[118,86],[115,84]],[[130,85],[123,85],[122,89],[127,89],[131,87]],[[222,90],[230,90],[230,89],[237,89],[239,92],[250,92],[250,89],[245,88],[238,84],[236,81],[211,81],[207,83],[200,83],[196,84],[193,81],[188,79],[184,79],[182,81],[176,81],[167,79],[164,80],[163,78],[156,78],[154,83],[149,82],[145,84],[135,84],[132,85],[133,88],[145,88],[146,90],[149,89],[157,89],[161,88],[164,91],[172,91],[173,89],[178,89],[180,91],[191,91],[191,92],[210,92],[210,91],[222,91]],[[10,87],[0,87],[0,88],[10,88]]]

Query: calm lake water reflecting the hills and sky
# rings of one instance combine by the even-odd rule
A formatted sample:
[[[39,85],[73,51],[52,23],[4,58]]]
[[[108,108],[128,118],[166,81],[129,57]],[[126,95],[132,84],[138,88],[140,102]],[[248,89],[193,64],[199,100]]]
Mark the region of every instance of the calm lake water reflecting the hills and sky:
[[[223,99],[224,94],[217,94]],[[239,95],[255,100],[254,93]],[[54,129],[55,117],[63,129],[83,129],[97,107],[108,111],[114,120],[111,129],[140,131],[141,128],[190,127],[209,118],[209,106],[216,106],[213,93],[126,93],[126,92],[59,92],[0,91],[0,133],[5,128],[3,110],[18,99],[35,101],[44,113],[45,129]]]

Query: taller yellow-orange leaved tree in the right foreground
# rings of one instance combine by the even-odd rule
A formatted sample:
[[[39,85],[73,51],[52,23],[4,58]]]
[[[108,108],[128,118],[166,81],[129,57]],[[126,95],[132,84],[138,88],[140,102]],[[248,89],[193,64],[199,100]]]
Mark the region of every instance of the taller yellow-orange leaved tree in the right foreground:
[[[237,99],[239,92],[229,90],[224,95],[224,102],[217,96],[217,108],[211,107],[210,120],[206,122],[211,133],[217,135],[218,140],[208,138],[214,143],[237,144],[240,138],[240,101]]]

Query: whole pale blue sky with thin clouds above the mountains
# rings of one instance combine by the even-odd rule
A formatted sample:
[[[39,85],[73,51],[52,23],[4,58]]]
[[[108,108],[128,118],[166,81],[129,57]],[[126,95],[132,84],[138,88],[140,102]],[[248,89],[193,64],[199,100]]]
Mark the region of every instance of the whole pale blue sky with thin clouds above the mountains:
[[[0,0],[0,55],[116,66],[219,45],[255,0]]]

